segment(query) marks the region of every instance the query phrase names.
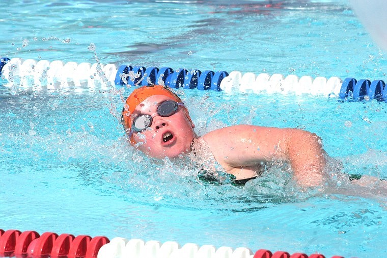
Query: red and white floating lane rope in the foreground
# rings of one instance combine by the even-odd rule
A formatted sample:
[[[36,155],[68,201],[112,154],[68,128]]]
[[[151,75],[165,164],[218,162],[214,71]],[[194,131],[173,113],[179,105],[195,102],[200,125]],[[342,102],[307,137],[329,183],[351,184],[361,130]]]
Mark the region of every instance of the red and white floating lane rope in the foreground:
[[[158,241],[141,239],[127,240],[106,237],[45,232],[39,235],[36,231],[19,231],[0,229],[0,257],[33,257],[33,258],[325,258],[314,253],[289,254],[285,251],[272,253],[260,249],[253,253],[251,249],[239,247],[215,248],[212,245],[198,246],[187,243],[180,247],[177,242],[169,241],[161,244]],[[344,258],[332,256],[331,258]]]

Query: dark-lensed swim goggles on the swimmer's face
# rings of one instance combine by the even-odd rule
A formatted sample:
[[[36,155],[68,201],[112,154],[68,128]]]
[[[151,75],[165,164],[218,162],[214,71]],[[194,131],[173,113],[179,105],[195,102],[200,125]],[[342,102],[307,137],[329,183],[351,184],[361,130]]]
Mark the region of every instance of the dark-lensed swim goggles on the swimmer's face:
[[[161,117],[172,116],[176,113],[178,106],[184,106],[183,102],[176,102],[174,100],[162,101],[157,107],[157,114]],[[151,126],[153,117],[151,115],[139,115],[133,119],[131,130],[134,132],[141,132]]]

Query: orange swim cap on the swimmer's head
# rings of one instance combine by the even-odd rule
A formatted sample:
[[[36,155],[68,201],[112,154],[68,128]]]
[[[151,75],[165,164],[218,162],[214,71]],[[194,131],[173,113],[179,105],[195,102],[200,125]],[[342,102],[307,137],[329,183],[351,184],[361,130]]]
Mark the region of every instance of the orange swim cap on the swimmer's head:
[[[132,127],[132,120],[130,118],[130,115],[133,113],[135,108],[139,106],[141,102],[143,102],[147,97],[150,97],[153,95],[164,95],[164,96],[170,97],[176,102],[183,102],[178,95],[176,95],[171,90],[161,85],[143,86],[133,90],[133,92],[126,99],[126,105],[124,105],[124,108],[122,110],[122,116],[121,116],[121,122],[127,133],[130,132],[130,129]],[[187,118],[192,123],[192,120],[189,117],[187,108],[184,106],[180,106],[180,107],[183,109]],[[134,139],[132,135],[130,137],[130,142],[134,144]]]

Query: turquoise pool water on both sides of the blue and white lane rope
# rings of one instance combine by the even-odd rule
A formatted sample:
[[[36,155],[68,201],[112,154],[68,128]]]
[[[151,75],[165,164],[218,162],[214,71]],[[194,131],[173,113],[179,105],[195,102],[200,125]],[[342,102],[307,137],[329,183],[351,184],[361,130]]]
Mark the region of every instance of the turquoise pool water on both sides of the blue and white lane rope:
[[[383,51],[346,3],[264,4],[19,2],[5,7],[8,36],[0,51],[34,60],[97,57],[117,65],[384,78]],[[191,170],[149,162],[128,147],[117,92],[8,86],[0,92],[4,229],[326,256],[385,254],[386,199],[372,189],[298,193],[289,175],[275,170],[244,188],[201,184]],[[199,134],[235,123],[305,128],[322,137],[344,172],[387,176],[384,102],[181,93]]]

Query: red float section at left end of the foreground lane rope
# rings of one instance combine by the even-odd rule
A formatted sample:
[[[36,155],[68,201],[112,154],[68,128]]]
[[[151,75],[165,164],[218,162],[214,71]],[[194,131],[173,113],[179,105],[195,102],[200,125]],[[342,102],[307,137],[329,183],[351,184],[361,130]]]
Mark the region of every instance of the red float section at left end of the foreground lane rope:
[[[96,258],[102,245],[109,243],[106,237],[59,235],[36,231],[0,229],[0,257],[33,258]]]

